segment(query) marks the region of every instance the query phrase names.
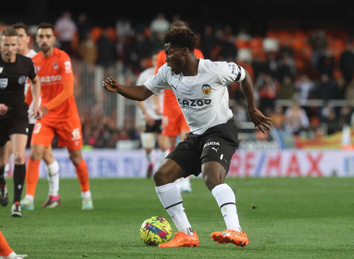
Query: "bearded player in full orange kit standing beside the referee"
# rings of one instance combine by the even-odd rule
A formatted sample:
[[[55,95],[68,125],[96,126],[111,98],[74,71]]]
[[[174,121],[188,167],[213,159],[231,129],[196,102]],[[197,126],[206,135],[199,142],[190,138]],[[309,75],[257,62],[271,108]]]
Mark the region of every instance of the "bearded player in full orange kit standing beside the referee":
[[[50,23],[39,24],[36,42],[41,51],[33,57],[33,62],[41,81],[40,109],[45,116],[36,122],[33,129],[26,173],[26,196],[21,206],[33,209],[39,163],[57,134],[59,146],[68,148],[70,160],[76,168],[81,186],[82,209],[93,209],[89,173],[81,156],[81,123],[74,99],[74,75],[70,57],[53,47],[54,27]]]

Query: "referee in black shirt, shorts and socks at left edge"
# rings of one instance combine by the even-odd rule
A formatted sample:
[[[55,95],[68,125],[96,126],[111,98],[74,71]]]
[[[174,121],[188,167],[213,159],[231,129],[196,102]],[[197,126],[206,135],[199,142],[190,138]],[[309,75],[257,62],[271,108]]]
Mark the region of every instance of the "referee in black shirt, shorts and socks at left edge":
[[[38,108],[40,81],[32,59],[17,54],[18,34],[12,27],[0,33],[0,204],[8,204],[4,169],[8,161],[6,142],[11,139],[15,168],[13,170],[14,197],[12,217],[22,217],[20,198],[26,174],[24,152],[28,134],[28,105],[24,102],[24,86],[27,77],[32,82],[34,116],[42,117]]]

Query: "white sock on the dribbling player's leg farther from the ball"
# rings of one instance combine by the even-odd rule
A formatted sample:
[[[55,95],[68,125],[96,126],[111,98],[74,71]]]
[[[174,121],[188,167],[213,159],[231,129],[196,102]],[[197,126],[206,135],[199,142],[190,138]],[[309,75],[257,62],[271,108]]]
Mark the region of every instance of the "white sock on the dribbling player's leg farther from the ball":
[[[221,213],[224,217],[227,230],[236,230],[241,232],[239,216],[236,211],[235,194],[227,184],[219,184],[212,189],[211,193],[217,201]]]

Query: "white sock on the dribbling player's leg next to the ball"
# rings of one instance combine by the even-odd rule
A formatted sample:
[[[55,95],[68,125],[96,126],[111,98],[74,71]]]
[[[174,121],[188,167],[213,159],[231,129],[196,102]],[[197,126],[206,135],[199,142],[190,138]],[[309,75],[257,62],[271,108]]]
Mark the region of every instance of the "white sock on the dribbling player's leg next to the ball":
[[[162,205],[169,213],[178,231],[193,235],[192,227],[189,224],[187,215],[182,205],[182,196],[175,183],[169,183],[156,187],[156,193]]]

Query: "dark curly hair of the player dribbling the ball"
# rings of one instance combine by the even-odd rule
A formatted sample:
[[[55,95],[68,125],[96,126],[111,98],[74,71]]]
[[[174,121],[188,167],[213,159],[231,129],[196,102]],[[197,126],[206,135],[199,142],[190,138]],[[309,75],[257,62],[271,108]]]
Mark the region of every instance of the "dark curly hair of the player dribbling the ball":
[[[172,45],[181,48],[187,47],[189,51],[193,51],[197,45],[197,37],[194,32],[189,28],[173,27],[165,32],[162,38],[162,43],[166,44],[171,42]]]

